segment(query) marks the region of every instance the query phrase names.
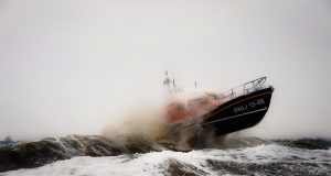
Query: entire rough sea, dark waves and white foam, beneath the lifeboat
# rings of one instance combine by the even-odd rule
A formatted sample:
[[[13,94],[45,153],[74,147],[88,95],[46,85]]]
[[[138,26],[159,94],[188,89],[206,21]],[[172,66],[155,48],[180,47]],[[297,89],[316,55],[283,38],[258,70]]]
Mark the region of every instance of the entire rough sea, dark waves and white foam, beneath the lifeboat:
[[[0,147],[0,176],[327,176],[331,173],[331,141],[328,139],[217,140],[209,147],[180,147],[166,141],[142,139],[118,142],[82,135],[15,142]]]

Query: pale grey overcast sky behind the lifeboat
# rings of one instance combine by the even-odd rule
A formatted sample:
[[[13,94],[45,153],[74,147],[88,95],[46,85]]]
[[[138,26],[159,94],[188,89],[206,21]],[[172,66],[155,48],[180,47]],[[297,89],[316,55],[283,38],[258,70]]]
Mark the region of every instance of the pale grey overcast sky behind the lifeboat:
[[[267,76],[268,138],[331,136],[329,0],[0,0],[0,139],[98,134],[167,69],[226,90]]]

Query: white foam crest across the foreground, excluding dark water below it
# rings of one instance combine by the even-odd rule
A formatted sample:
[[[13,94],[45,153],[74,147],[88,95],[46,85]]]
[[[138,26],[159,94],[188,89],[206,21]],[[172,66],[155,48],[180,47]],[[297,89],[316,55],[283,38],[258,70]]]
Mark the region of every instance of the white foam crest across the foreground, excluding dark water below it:
[[[276,144],[237,150],[202,150],[183,152],[151,152],[147,154],[119,155],[108,157],[75,157],[33,169],[2,173],[0,176],[108,176],[108,175],[163,175],[169,161],[188,164],[210,175],[217,175],[207,166],[206,160],[236,163],[269,163],[281,160],[331,163],[331,151],[300,150]]]

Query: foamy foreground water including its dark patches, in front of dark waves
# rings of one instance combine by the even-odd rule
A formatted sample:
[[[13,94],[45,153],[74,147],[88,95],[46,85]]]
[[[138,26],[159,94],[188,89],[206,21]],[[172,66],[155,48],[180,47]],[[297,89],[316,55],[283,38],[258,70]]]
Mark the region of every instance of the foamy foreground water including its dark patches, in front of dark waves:
[[[111,175],[330,175],[331,150],[307,150],[278,144],[191,152],[148,152],[117,156],[78,156],[0,176]]]

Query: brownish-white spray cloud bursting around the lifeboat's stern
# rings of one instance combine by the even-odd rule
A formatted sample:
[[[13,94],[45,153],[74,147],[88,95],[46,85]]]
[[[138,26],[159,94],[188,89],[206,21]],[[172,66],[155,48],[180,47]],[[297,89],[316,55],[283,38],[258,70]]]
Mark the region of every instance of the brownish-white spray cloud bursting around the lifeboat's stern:
[[[148,141],[168,143],[181,150],[200,148],[210,144],[213,132],[204,131],[201,127],[202,116],[206,109],[191,102],[190,111],[194,113],[184,117],[185,120],[173,121],[172,106],[174,103],[185,106],[183,102],[188,100],[177,97],[169,101],[160,105],[138,105],[136,110],[127,112],[120,121],[107,125],[102,135],[122,144],[130,141]]]

